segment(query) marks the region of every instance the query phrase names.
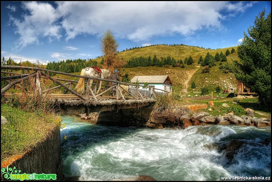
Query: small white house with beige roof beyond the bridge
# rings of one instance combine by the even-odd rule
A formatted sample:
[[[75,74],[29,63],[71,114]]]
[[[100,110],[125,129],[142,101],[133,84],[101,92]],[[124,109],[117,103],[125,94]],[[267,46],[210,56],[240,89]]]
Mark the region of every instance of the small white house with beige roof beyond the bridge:
[[[172,82],[168,75],[152,75],[152,76],[135,76],[131,79],[131,83],[135,82],[140,83],[140,85],[144,85],[144,83],[148,83],[148,90],[151,88],[159,88],[168,92],[172,92]],[[163,92],[161,90],[155,90],[156,92]]]

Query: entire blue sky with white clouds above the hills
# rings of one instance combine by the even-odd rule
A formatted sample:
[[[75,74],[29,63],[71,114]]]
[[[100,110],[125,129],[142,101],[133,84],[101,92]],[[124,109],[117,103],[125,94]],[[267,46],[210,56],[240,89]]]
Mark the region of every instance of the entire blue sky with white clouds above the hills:
[[[156,44],[237,46],[270,1],[1,1],[1,59],[15,62],[101,56],[110,29],[118,51]]]

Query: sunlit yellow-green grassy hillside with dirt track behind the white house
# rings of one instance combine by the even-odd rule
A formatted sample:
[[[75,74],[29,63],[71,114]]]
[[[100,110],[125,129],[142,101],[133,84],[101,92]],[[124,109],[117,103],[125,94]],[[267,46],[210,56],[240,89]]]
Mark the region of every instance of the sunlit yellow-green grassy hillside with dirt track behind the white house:
[[[202,56],[204,59],[208,52],[212,56],[215,56],[217,52],[220,54],[222,51],[222,53],[225,54],[227,50],[231,51],[232,48],[235,49],[235,52],[227,56],[227,62],[232,62],[232,60],[239,60],[237,56],[237,46],[217,50],[208,50],[195,46],[185,45],[154,45],[133,49],[120,52],[118,55],[125,61],[128,61],[133,57],[153,57],[154,55],[156,55],[158,58],[171,56],[176,60],[182,59],[184,61],[185,57],[189,58],[189,56],[191,56],[194,60],[194,63],[192,65],[184,64],[185,68],[172,66],[134,67],[121,68],[119,71],[121,75],[128,73],[130,78],[133,78],[136,75],[168,75],[173,83],[173,89],[177,92],[184,88],[187,88],[188,91],[200,91],[204,86],[208,86],[210,91],[215,91],[217,86],[220,86],[221,89],[226,89],[230,86],[236,87],[237,80],[235,79],[233,73],[223,73],[222,70],[219,69],[219,62],[216,63],[216,66],[210,69],[210,73],[201,73],[202,66],[197,64],[200,56]],[[97,62],[101,62],[101,60],[102,57],[95,59]],[[223,65],[225,63],[226,62],[222,62]],[[196,84],[197,88],[195,88],[195,90],[190,88],[192,81],[194,81]]]

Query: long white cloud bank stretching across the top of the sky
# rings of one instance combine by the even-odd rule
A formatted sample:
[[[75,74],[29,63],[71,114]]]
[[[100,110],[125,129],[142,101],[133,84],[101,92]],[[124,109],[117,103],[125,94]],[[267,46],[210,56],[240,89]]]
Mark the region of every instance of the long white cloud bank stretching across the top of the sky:
[[[59,1],[54,8],[45,2],[23,2],[27,12],[23,14],[23,19],[11,16],[10,20],[20,36],[17,47],[21,48],[39,44],[40,38],[59,40],[61,30],[65,32],[66,41],[77,35],[99,37],[103,31],[110,29],[117,38],[137,42],[164,35],[188,37],[202,29],[223,30],[221,21],[226,16],[244,12],[253,3]]]

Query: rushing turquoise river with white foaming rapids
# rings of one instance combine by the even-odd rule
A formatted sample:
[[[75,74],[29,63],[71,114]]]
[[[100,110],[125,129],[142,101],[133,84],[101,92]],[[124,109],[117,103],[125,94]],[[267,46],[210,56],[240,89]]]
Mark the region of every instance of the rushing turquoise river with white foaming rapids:
[[[221,180],[221,177],[271,176],[271,127],[190,126],[151,129],[100,126],[62,116],[64,176],[111,180],[152,176],[156,180]],[[64,139],[64,136],[67,136]],[[228,163],[232,139],[246,142]]]

